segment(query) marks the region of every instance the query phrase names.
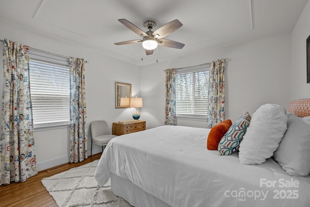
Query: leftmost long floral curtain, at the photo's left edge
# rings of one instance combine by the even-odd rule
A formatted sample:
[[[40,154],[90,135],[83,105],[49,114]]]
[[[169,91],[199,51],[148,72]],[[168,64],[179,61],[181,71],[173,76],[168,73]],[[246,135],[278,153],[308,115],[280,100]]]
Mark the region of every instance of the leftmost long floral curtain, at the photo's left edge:
[[[0,185],[37,174],[28,51],[28,46],[4,39]]]

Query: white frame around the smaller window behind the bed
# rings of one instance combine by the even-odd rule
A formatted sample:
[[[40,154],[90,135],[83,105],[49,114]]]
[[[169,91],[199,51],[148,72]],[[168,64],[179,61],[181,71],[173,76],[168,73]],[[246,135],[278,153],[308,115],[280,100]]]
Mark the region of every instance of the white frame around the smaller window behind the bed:
[[[186,73],[210,71],[209,69],[210,69],[209,64],[201,64],[201,65],[196,65],[196,66],[177,68],[175,72],[175,76],[180,75],[180,74],[186,74]],[[210,74],[209,74],[209,77],[210,77]],[[209,98],[209,95],[208,95],[208,98]],[[207,120],[207,115],[180,114],[180,113],[178,114],[177,112],[175,112],[175,116],[177,119],[182,119],[182,120],[193,120],[193,121],[206,121]]]

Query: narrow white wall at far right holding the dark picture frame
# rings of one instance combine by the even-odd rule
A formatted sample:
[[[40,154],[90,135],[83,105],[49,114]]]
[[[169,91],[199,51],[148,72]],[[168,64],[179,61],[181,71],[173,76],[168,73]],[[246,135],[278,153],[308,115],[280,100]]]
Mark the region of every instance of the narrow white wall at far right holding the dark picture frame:
[[[299,17],[292,32],[291,99],[310,98],[307,84],[306,40],[310,35],[310,1]]]

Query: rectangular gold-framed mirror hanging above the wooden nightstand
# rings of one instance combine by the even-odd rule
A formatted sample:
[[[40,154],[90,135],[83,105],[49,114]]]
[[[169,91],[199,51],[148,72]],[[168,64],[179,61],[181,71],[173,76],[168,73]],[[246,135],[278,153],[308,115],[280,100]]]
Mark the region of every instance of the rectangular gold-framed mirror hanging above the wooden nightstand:
[[[131,84],[115,82],[115,109],[130,108]]]

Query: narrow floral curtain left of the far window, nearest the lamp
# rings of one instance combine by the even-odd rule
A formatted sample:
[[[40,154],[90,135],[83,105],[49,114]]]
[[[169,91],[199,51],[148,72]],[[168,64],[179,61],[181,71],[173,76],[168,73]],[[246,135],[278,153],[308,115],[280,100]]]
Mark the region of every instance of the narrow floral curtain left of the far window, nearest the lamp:
[[[165,73],[166,73],[165,125],[176,125],[175,68],[166,69]]]

